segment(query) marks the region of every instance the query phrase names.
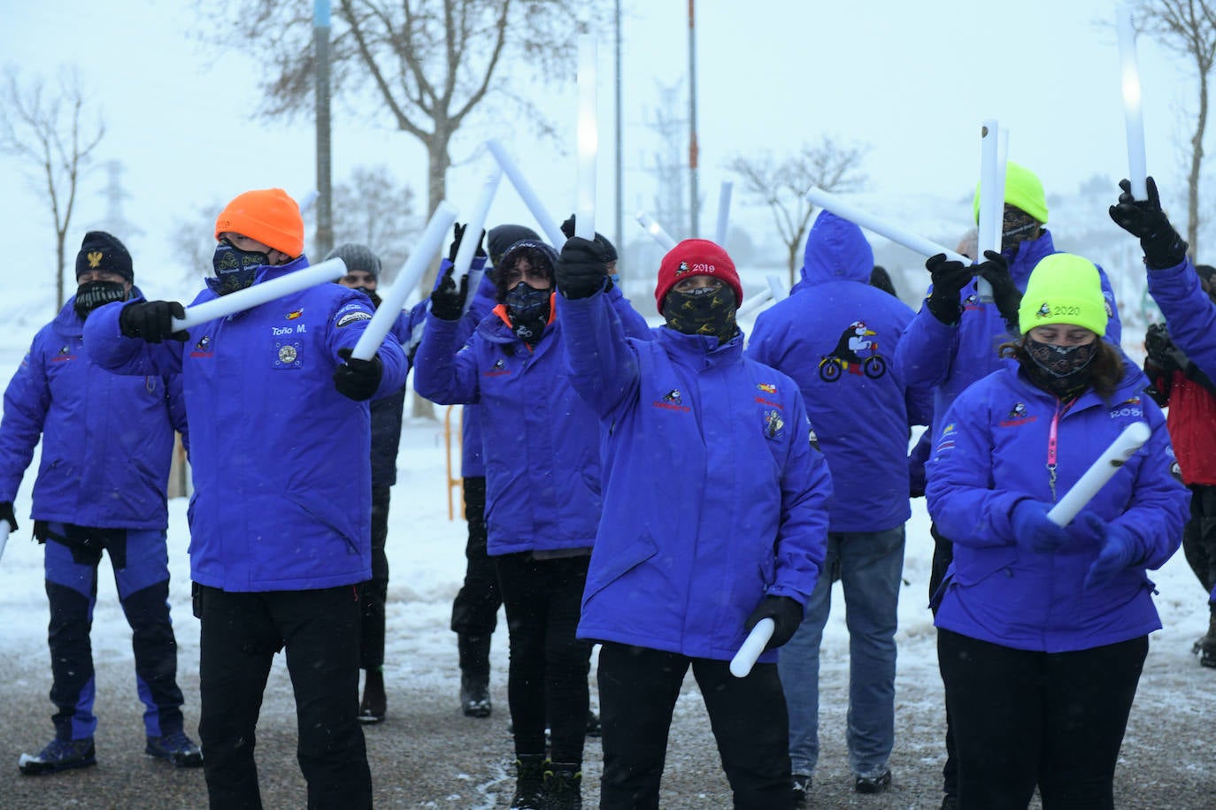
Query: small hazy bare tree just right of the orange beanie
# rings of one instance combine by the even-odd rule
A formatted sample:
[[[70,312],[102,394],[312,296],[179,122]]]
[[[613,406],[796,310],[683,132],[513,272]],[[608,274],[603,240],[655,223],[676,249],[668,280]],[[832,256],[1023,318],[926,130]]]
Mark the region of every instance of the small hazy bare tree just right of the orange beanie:
[[[398,186],[388,166],[356,168],[333,189],[334,244],[367,245],[384,264],[382,281],[392,282],[418,234],[413,204],[413,189]]]

